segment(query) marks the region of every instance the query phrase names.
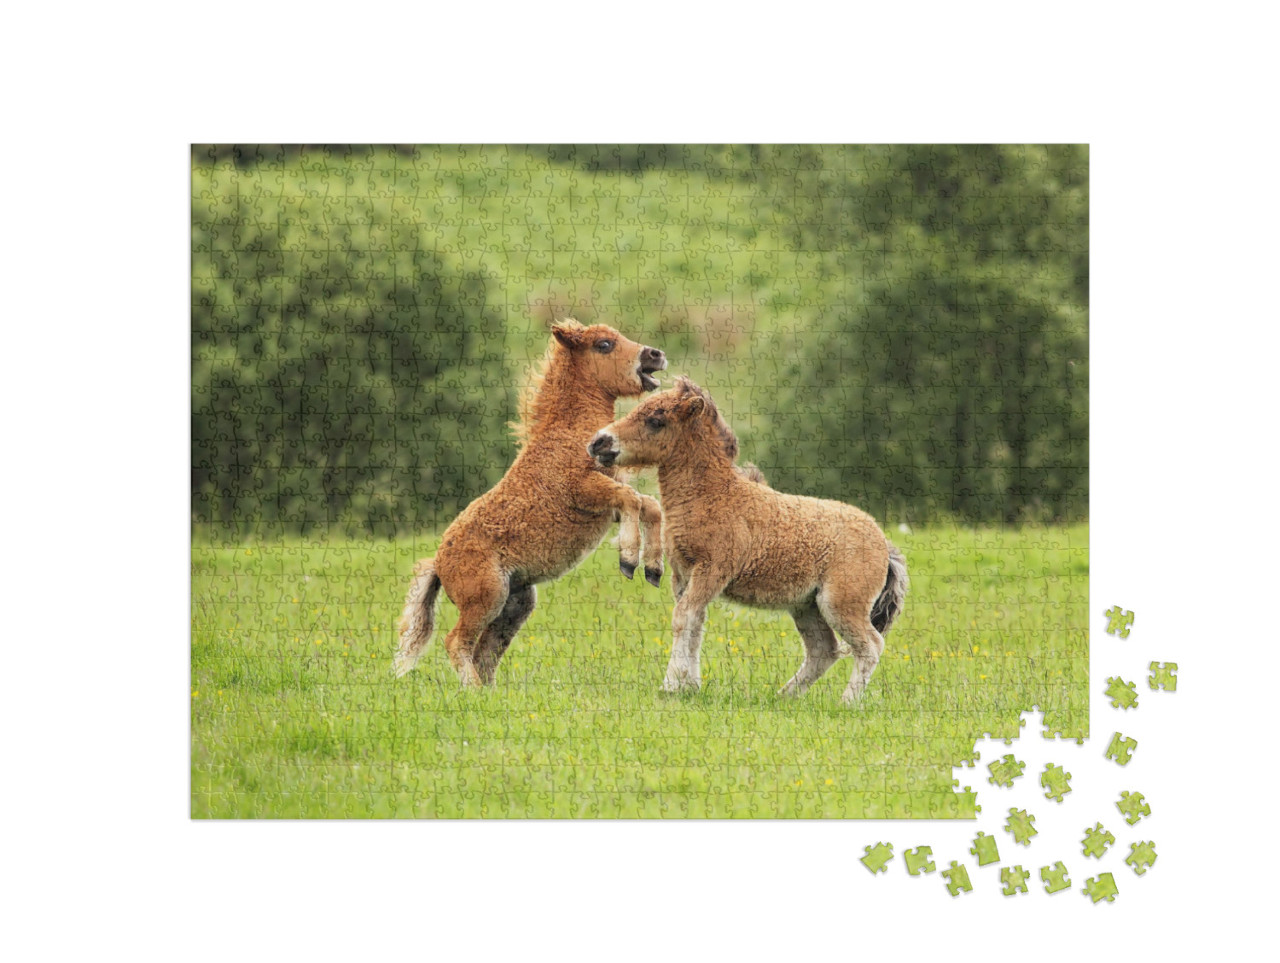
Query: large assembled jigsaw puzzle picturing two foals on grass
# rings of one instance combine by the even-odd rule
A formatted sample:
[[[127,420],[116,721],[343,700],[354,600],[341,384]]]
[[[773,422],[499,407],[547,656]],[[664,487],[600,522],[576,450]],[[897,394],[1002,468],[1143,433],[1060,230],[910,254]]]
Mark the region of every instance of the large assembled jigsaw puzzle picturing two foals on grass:
[[[1088,734],[1088,190],[1073,145],[193,146],[191,814],[1016,793],[952,766]]]

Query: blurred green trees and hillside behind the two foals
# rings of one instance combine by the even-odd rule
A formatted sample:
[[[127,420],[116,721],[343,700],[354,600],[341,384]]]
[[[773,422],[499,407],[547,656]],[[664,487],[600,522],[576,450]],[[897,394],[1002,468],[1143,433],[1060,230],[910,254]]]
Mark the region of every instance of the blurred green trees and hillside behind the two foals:
[[[439,529],[566,314],[781,489],[1087,517],[1087,147],[543,145],[193,149],[193,520]]]

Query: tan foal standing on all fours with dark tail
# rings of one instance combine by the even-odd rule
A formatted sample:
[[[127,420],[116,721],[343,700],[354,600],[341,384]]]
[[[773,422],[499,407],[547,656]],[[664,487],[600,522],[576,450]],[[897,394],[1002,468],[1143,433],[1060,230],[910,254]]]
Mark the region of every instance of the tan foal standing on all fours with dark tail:
[[[858,698],[908,584],[901,552],[874,519],[841,502],[776,492],[737,470],[737,438],[710,396],[687,378],[600,429],[588,451],[602,466],[658,466],[676,594],[663,689],[701,685],[707,606],[723,594],[791,612],[805,657],[783,693],[804,693],[837,660],[852,656],[844,698]]]

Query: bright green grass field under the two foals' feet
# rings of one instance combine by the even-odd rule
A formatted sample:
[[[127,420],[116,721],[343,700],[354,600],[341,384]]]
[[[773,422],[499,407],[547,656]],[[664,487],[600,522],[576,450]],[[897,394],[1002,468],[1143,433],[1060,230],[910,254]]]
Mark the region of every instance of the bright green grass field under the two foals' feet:
[[[392,677],[407,575],[434,542],[270,542],[192,558],[195,817],[959,817],[983,732],[1088,729],[1088,528],[901,534],[911,592],[860,704],[851,662],[800,700],[785,613],[717,602],[704,688],[659,693],[671,592],[607,542],[539,587],[486,692],[440,640]],[[984,772],[974,770],[974,786]]]

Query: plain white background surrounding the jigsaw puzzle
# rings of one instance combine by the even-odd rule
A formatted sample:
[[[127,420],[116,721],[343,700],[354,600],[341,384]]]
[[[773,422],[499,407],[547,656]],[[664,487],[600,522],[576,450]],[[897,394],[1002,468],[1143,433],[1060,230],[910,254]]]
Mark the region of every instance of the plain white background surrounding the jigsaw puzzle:
[[[1265,939],[1274,33],[1230,3],[982,6],[10,13],[6,945],[1052,959]],[[928,841],[928,823],[191,822],[192,141],[1092,143],[1094,640],[1119,602],[1130,639],[1181,667],[1140,750],[1161,802],[1148,878],[1119,867],[1121,896],[1098,905],[952,900],[937,876],[904,898],[900,859],[879,877],[858,862],[876,839]]]

